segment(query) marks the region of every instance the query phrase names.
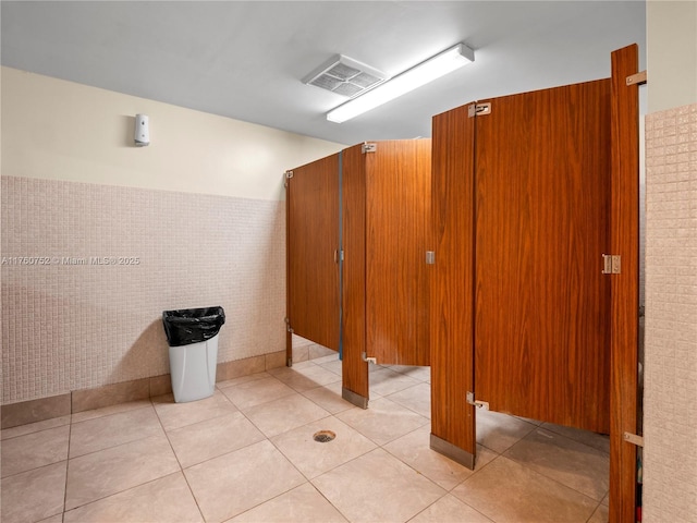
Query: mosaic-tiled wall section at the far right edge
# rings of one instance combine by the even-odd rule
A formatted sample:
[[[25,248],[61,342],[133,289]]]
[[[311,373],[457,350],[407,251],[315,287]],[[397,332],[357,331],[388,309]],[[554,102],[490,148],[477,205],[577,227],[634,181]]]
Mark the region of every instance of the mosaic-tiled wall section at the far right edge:
[[[697,514],[697,105],[646,119],[644,521]]]

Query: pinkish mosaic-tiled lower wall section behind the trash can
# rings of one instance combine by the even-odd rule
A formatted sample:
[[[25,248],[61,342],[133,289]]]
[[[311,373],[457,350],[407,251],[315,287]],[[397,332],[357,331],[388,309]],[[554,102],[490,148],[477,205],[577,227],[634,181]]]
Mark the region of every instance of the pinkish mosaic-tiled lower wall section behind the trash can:
[[[3,404],[168,373],[166,309],[222,305],[219,362],[285,349],[284,202],[12,177],[1,191]]]

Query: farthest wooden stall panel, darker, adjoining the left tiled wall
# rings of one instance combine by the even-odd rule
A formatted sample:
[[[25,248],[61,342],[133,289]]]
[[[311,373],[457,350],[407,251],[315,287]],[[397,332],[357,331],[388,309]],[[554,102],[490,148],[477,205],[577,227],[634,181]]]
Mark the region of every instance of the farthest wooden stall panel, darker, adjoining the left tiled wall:
[[[338,351],[339,155],[294,169],[288,182],[289,323],[295,335]]]

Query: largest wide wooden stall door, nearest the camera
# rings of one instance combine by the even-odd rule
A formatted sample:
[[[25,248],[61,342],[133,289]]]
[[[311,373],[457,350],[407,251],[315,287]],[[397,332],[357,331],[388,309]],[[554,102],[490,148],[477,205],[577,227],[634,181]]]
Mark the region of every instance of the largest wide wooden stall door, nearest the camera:
[[[476,117],[476,399],[608,433],[610,81]]]

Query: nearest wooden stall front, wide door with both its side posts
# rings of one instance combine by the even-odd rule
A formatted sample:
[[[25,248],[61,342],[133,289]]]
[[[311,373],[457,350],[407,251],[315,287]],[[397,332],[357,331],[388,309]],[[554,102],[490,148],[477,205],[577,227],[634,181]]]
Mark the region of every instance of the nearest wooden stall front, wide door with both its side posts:
[[[611,78],[433,117],[431,448],[474,467],[477,408],[610,434],[613,523],[636,504],[636,73],[633,45]]]

